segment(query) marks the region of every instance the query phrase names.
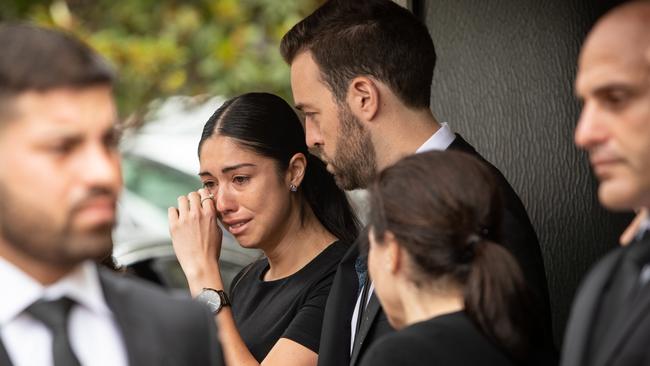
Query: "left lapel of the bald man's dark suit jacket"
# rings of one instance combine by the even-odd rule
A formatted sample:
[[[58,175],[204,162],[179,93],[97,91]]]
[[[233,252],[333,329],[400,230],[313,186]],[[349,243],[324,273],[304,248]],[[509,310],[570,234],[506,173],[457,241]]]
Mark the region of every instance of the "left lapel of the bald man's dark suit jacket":
[[[564,337],[561,362],[563,366],[577,366],[584,363],[587,342],[591,338],[592,324],[601,302],[603,289],[609,283],[621,255],[622,250],[617,250],[605,257],[589,273],[576,295]]]

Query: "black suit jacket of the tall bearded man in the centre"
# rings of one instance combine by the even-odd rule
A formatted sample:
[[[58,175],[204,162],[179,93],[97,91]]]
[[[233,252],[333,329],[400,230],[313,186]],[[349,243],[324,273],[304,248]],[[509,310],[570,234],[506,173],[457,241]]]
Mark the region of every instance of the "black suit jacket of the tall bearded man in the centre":
[[[544,325],[543,338],[547,343],[545,348],[552,348],[553,333],[544,261],[537,235],[530,223],[526,209],[503,174],[483,159],[460,135],[456,135],[456,139],[449,146],[449,149],[465,152],[479,158],[494,172],[502,192],[505,208],[503,211],[502,244],[517,259],[522,267],[526,281],[533,292],[536,293],[540,312],[539,317]],[[365,232],[362,235],[365,235]],[[368,307],[364,311],[361,326],[355,337],[352,355],[350,355],[350,322],[352,321],[352,313],[354,312],[359,291],[358,279],[354,269],[358,256],[359,245],[355,243],[341,261],[334,277],[323,318],[321,343],[318,352],[319,366],[357,365],[370,344],[392,331],[381,305],[373,293]]]

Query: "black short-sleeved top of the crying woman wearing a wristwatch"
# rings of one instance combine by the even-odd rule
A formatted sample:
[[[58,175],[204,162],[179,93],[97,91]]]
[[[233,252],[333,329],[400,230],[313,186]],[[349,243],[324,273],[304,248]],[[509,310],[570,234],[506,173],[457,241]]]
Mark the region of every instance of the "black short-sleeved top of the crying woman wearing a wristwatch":
[[[235,276],[230,294],[233,316],[258,362],[280,338],[318,353],[325,301],[347,248],[337,241],[298,272],[279,280],[263,280],[269,269],[266,258]]]

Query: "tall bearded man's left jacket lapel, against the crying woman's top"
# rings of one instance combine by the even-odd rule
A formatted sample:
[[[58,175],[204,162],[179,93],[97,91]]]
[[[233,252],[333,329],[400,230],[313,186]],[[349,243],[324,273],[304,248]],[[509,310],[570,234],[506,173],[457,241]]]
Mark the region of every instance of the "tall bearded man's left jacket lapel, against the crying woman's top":
[[[318,351],[319,366],[350,363],[350,323],[359,291],[359,281],[354,269],[358,256],[358,244],[355,243],[348,249],[334,276],[323,315]]]

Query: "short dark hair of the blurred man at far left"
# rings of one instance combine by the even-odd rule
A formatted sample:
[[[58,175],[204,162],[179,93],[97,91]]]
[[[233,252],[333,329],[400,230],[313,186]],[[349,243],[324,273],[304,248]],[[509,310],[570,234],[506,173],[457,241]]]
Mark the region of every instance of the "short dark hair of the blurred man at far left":
[[[24,23],[0,24],[0,115],[29,90],[112,85],[110,65],[77,38]]]

